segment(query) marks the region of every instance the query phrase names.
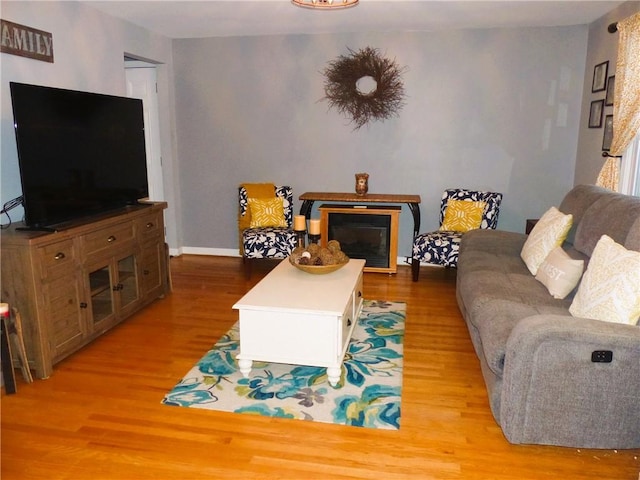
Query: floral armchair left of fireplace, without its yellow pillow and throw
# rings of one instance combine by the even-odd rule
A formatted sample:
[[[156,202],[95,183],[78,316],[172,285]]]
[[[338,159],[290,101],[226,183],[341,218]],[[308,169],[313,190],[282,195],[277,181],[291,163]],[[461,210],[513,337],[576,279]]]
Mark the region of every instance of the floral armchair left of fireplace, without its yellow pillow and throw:
[[[239,225],[242,217],[249,210],[249,198],[244,186],[240,186],[239,193]],[[245,264],[245,273],[251,274],[251,262],[255,259],[276,258],[289,256],[296,245],[296,235],[291,228],[293,225],[293,189],[289,186],[275,186],[275,196],[282,199],[285,226],[260,226],[255,228],[240,227],[240,254]]]

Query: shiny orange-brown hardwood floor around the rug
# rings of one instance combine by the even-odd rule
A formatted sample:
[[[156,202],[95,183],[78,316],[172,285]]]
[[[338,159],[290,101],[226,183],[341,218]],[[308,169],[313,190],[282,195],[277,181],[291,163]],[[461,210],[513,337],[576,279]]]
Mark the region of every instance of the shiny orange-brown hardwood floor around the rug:
[[[2,394],[2,480],[640,478],[640,450],[505,440],[455,303],[453,270],[423,268],[417,283],[407,266],[365,274],[365,298],[407,303],[398,431],[160,404],[271,266],[245,280],[238,258],[174,258],[172,294],[49,379],[19,378],[16,395]]]

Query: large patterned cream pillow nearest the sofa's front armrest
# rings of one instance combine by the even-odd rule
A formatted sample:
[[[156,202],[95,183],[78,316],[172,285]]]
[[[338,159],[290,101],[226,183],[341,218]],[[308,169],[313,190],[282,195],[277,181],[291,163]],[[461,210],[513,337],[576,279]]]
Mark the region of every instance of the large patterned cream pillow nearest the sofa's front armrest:
[[[640,252],[600,237],[569,312],[574,317],[637,325],[640,317]]]

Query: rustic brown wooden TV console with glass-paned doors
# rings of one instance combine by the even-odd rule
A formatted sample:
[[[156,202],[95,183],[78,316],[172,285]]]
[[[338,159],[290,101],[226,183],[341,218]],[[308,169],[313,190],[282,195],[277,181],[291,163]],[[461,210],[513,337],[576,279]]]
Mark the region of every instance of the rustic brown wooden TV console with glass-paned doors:
[[[2,301],[22,316],[38,378],[168,293],[166,207],[125,207],[56,232],[1,231]]]

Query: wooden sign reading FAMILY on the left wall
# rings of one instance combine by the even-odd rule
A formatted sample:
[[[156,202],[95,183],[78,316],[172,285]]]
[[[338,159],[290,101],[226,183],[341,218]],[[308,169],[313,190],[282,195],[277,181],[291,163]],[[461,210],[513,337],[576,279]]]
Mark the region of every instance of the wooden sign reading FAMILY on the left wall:
[[[0,52],[53,63],[53,35],[0,19]]]

